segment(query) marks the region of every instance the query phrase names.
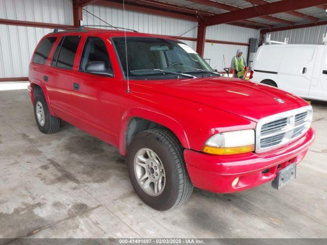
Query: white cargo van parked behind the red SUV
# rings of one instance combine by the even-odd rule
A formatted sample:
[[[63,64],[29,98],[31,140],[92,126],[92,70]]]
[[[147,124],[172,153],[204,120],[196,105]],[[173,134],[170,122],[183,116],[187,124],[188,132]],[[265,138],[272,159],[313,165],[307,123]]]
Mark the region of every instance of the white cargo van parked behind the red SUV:
[[[255,83],[327,101],[327,45],[262,45],[254,56],[251,77]]]

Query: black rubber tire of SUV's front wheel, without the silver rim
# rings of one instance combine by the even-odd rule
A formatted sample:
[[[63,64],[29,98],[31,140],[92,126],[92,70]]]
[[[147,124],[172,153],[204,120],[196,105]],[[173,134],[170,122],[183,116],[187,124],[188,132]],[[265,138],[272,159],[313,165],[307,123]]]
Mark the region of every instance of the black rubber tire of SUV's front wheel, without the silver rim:
[[[134,157],[142,148],[154,151],[165,169],[166,184],[157,196],[146,193],[135,176]],[[181,205],[191,197],[193,184],[186,170],[183,148],[171,131],[150,129],[138,133],[129,146],[127,165],[135,192],[150,207],[164,211]]]

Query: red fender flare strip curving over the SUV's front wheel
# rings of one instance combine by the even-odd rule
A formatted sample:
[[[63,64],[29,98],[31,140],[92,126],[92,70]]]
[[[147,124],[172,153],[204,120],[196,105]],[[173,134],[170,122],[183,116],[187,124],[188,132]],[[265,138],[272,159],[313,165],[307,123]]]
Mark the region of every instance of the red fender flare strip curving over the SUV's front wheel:
[[[183,148],[190,148],[189,139],[183,127],[174,118],[144,108],[130,108],[129,110],[125,111],[122,116],[122,126],[119,134],[119,151],[122,155],[127,154],[126,132],[130,120],[135,117],[147,119],[156,122],[157,124],[160,124],[162,126],[165,126],[177,136]]]

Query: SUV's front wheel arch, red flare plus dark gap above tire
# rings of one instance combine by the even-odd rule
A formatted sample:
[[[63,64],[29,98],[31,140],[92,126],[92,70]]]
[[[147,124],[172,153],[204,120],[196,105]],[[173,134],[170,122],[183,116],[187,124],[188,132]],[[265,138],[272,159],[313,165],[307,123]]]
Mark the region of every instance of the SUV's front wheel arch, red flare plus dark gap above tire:
[[[127,154],[128,145],[137,133],[153,128],[172,131],[183,148],[190,148],[190,143],[184,129],[175,119],[147,109],[133,108],[126,111],[122,117],[119,134],[120,153],[122,155]]]

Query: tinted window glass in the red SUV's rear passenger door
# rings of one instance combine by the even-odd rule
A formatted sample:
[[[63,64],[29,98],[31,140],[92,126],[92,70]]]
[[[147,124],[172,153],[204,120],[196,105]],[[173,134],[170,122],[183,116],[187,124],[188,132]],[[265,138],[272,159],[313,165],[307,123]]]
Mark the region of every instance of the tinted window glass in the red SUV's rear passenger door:
[[[62,37],[56,48],[51,65],[72,70],[80,39],[80,36]]]

